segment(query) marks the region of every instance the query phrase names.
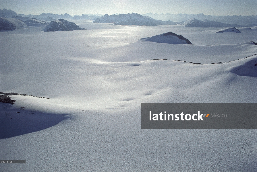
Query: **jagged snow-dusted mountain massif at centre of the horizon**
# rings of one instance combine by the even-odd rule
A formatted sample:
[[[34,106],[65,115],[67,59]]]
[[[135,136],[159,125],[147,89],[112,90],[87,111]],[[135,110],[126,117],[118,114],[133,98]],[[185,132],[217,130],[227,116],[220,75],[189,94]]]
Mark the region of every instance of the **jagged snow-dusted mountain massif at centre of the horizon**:
[[[114,23],[116,25],[123,26],[157,26],[157,25],[174,25],[173,21],[161,21],[156,20],[148,16],[142,16],[137,13],[119,14],[119,15],[108,15],[96,19],[93,23]]]

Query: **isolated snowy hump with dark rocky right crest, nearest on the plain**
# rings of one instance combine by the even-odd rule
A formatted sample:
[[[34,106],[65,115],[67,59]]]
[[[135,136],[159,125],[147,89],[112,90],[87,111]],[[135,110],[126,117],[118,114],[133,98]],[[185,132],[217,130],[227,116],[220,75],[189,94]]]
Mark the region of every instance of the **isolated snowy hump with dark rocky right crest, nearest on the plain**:
[[[182,35],[174,34],[173,32],[167,32],[161,35],[152,36],[149,38],[142,38],[143,41],[167,43],[167,44],[192,44],[188,39]]]

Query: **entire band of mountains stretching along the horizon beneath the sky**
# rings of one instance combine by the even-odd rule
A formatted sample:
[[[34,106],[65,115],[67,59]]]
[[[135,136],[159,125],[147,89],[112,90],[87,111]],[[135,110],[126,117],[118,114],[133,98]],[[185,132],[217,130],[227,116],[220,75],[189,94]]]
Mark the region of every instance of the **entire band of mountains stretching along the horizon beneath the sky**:
[[[113,14],[108,15],[105,14],[103,16],[99,14],[88,14],[88,15],[75,15],[72,17],[71,15],[65,14],[52,14],[52,13],[42,13],[40,15],[24,15],[17,14],[15,11],[0,9],[0,30],[15,30],[24,28],[27,26],[36,26],[36,27],[46,27],[47,25],[51,26],[49,30],[77,30],[83,29],[79,28],[76,24],[69,24],[69,21],[64,19],[86,19],[93,20],[93,23],[113,23],[115,25],[126,25],[126,26],[158,26],[158,25],[182,25],[185,27],[202,27],[202,28],[222,28],[222,27],[245,27],[245,26],[257,26],[257,15],[256,16],[211,16],[204,14],[152,14],[148,13],[147,15],[159,18],[171,18],[173,19],[185,19],[180,22],[174,22],[171,20],[158,20],[154,19],[150,16],[143,16],[137,13],[128,13],[128,14]],[[165,16],[165,17],[164,17]],[[194,16],[193,18],[188,18]],[[197,18],[196,18],[197,17]],[[227,23],[219,22],[219,21],[211,21],[206,18],[212,18],[220,21],[227,21],[231,19],[232,21],[237,21],[236,24],[231,24],[232,21]],[[57,21],[57,19],[59,19]],[[60,21],[60,19],[62,21]],[[175,20],[175,21],[176,21]],[[49,23],[48,21],[51,21]],[[62,23],[62,24],[61,24]],[[251,23],[251,24],[238,24],[238,23]],[[64,26],[67,25],[68,27]],[[76,26],[75,26],[76,25]],[[59,27],[59,29],[57,29]],[[71,28],[70,28],[71,27]],[[77,29],[75,29],[77,28]],[[251,28],[250,28],[251,29]]]

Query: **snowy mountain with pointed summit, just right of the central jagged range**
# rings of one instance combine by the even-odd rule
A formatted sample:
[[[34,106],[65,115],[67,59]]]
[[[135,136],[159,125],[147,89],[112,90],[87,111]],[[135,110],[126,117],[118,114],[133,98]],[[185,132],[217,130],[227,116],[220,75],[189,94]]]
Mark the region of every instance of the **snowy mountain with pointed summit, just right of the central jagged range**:
[[[243,27],[242,25],[237,24],[225,24],[217,21],[210,20],[198,20],[196,18],[191,18],[186,21],[178,23],[186,27],[200,27],[200,28],[222,28],[222,27]]]

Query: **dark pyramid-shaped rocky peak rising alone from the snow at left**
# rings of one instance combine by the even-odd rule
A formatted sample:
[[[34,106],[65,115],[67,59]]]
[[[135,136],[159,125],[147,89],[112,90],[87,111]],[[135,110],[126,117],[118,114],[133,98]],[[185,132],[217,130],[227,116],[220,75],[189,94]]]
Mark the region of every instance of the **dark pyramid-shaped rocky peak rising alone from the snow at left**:
[[[71,30],[85,30],[84,28],[78,27],[75,23],[59,19],[51,21],[51,23],[45,28],[44,32],[55,32],[55,31],[71,31]]]

